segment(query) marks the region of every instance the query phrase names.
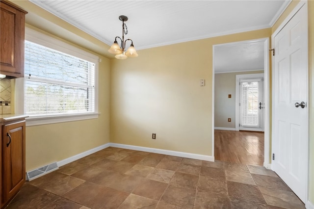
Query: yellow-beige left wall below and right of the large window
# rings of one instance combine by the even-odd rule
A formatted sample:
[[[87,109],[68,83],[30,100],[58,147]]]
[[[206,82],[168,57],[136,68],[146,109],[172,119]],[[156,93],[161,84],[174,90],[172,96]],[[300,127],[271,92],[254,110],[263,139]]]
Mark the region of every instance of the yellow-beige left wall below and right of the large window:
[[[110,62],[100,58],[98,119],[26,127],[26,171],[109,143]]]

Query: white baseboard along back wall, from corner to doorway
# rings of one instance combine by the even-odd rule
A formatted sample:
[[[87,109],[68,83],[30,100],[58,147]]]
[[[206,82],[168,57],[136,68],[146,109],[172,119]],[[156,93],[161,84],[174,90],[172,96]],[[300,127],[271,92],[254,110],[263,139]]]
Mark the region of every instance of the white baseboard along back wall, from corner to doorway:
[[[207,161],[215,160],[213,156],[199,155],[199,154],[193,154],[193,153],[183,153],[183,152],[177,152],[177,151],[171,151],[171,150],[161,150],[161,149],[155,149],[155,148],[149,148],[149,147],[139,147],[139,146],[133,146],[133,145],[126,145],[126,144],[110,143],[110,147],[157,153],[157,154],[163,154],[163,155],[169,155],[169,156],[201,159],[201,160],[207,160]]]

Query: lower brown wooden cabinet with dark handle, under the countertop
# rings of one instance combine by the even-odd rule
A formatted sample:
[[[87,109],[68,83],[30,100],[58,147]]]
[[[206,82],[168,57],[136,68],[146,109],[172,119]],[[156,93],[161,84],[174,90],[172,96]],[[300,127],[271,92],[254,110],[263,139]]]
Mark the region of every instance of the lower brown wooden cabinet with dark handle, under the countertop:
[[[21,188],[25,171],[25,121],[2,126],[2,204]]]

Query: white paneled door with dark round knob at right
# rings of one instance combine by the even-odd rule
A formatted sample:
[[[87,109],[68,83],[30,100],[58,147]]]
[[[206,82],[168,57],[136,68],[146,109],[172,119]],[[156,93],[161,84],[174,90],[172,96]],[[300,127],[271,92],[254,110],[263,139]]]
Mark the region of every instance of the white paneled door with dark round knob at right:
[[[307,195],[308,50],[305,5],[274,36],[272,169],[303,201]]]

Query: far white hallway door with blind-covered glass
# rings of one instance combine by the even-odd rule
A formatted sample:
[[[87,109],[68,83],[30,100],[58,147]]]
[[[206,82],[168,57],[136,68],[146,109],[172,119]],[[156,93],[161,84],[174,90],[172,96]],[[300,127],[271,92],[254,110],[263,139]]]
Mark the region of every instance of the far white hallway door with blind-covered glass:
[[[241,78],[239,84],[239,130],[263,131],[263,78]]]

